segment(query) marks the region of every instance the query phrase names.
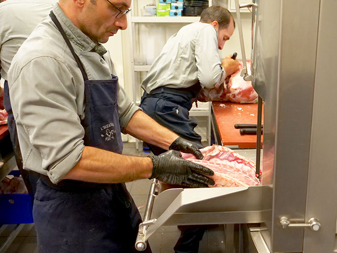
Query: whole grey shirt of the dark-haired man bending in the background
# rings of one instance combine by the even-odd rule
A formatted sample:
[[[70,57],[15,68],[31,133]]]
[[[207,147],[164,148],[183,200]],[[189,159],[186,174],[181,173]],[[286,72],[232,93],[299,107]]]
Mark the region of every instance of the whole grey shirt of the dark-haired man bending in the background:
[[[195,22],[171,36],[154,60],[141,87],[188,88],[198,81],[213,88],[226,77],[218,51],[218,34],[210,24]]]

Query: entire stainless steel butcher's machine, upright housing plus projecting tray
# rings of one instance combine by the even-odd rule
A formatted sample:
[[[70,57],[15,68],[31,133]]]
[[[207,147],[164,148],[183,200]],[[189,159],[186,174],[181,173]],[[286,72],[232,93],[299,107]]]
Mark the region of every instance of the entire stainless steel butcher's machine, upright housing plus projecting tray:
[[[240,223],[241,246],[226,239],[226,253],[337,252],[337,1],[252,6],[253,86],[264,103],[261,185],[164,191],[152,216],[146,212],[138,245],[160,225]]]

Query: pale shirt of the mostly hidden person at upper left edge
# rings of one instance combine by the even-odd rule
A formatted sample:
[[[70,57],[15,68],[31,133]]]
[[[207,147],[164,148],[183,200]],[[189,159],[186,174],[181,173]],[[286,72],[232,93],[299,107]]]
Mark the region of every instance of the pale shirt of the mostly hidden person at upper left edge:
[[[55,3],[56,0],[7,0],[0,4],[0,74],[5,80],[20,45]]]

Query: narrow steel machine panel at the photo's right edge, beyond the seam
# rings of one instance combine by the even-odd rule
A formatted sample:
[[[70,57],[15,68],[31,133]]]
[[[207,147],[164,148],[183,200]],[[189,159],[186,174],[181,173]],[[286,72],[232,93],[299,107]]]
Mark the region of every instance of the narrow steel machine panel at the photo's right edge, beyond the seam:
[[[314,107],[309,159],[306,219],[321,222],[318,232],[304,231],[305,253],[333,252],[337,215],[337,1],[322,0],[317,41]],[[332,127],[332,128],[331,128]]]

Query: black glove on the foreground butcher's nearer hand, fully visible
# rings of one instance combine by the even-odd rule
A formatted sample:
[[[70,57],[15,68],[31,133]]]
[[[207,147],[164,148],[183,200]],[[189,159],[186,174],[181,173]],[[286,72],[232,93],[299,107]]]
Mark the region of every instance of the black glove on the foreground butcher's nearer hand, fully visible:
[[[181,156],[181,153],[176,150],[170,150],[158,156],[150,155],[153,163],[150,179],[157,178],[165,183],[187,187],[214,185],[214,180],[205,176],[214,175],[212,170],[185,160]]]

